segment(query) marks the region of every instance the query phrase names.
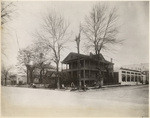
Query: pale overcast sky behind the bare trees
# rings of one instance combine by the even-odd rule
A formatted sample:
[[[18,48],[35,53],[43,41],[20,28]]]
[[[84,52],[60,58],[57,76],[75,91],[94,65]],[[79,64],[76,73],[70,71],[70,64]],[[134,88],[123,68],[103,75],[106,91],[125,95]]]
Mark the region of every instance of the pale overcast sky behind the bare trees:
[[[102,2],[103,3],[103,2]],[[12,20],[5,25],[2,31],[2,40],[5,42],[3,57],[6,65],[17,64],[19,48],[25,48],[32,44],[33,33],[40,28],[42,17],[51,11],[60,13],[70,23],[72,32],[71,40],[78,34],[80,23],[84,23],[85,16],[89,14],[92,6],[97,4],[90,1],[61,1],[61,2],[15,2],[16,11]],[[148,2],[107,2],[108,6],[118,8],[119,22],[121,25],[118,37],[123,39],[122,45],[114,47],[114,50],[102,52],[106,60],[113,58],[114,66],[123,66],[149,62],[149,3]],[[17,38],[19,46],[17,44]],[[84,50],[84,37],[81,35],[81,53],[89,54]],[[68,43],[68,48],[63,50],[61,61],[70,53],[77,52],[76,43]]]

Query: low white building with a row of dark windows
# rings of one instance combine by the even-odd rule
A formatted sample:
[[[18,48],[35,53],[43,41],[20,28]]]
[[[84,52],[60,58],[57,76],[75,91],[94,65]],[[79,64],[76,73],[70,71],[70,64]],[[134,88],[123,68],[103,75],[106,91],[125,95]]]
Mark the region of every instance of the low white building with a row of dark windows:
[[[119,83],[121,85],[146,84],[146,75],[139,70],[120,68]]]

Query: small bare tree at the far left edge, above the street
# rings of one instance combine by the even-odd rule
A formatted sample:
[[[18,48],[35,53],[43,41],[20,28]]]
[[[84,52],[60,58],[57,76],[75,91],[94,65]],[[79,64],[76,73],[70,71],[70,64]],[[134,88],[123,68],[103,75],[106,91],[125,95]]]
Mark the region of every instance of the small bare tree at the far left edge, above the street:
[[[2,66],[2,70],[1,70],[1,78],[4,79],[5,81],[5,86],[7,85],[7,79],[9,77],[10,74],[10,70],[12,69],[12,67],[4,67]]]

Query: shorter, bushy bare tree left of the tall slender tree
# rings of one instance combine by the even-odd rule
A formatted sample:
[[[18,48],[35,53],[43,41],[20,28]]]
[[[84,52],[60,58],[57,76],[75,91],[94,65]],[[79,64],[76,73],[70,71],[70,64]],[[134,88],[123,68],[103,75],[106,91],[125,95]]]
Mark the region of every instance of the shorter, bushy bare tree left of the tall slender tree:
[[[50,64],[49,56],[47,56],[47,51],[45,49],[32,44],[25,49],[20,49],[17,59],[18,69],[27,74],[27,80],[30,78],[30,81],[27,83],[32,82],[31,76],[35,68],[40,69],[40,82],[42,82],[42,72],[45,69],[45,64]],[[30,62],[33,62],[32,65],[30,65]]]

